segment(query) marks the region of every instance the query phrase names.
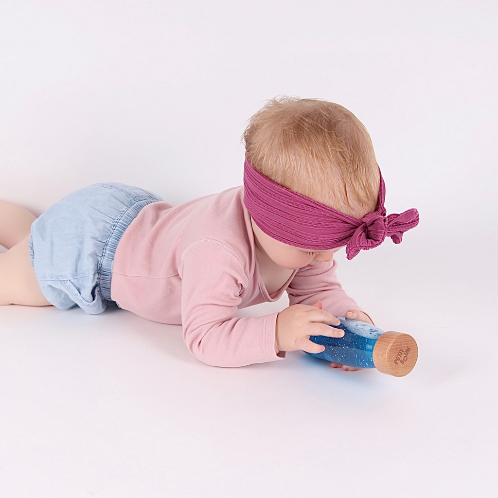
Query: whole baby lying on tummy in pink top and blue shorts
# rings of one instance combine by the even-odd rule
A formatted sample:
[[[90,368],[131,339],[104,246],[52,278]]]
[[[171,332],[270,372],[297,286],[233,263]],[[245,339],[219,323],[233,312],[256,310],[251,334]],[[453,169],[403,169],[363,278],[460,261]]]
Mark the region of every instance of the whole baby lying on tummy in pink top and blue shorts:
[[[337,104],[285,97],[249,120],[244,140],[244,186],[179,206],[118,183],[78,190],[37,219],[0,201],[0,304],[97,314],[114,301],[181,324],[189,351],[221,367],[320,353],[309,337],[344,335],[329,327],[337,316],[372,323],[337,280],[334,253],[399,243],[418,213],[385,216],[363,124]],[[280,313],[236,316],[284,291]]]

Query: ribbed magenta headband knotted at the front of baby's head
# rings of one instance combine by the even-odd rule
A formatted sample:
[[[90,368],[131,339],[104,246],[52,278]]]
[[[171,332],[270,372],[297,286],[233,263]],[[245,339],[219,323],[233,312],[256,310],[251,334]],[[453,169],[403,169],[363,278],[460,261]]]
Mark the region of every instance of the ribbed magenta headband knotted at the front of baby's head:
[[[385,216],[385,185],[380,175],[377,207],[361,220],[282,187],[244,163],[244,204],[268,236],[290,246],[329,250],[346,246],[348,259],[361,249],[379,246],[386,237],[399,244],[403,233],[418,225],[418,211]]]

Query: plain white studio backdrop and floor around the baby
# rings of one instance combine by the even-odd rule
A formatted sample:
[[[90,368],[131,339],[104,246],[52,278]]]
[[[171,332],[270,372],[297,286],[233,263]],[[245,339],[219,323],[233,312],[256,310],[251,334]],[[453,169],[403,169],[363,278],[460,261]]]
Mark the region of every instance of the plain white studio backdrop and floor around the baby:
[[[242,369],[121,310],[0,308],[0,491],[12,497],[494,496],[495,1],[0,2],[0,198],[40,214],[100,181],[180,203],[242,183],[265,100],[369,129],[388,212],[421,223],[345,288],[413,334],[407,377],[300,353]],[[267,313],[285,306],[257,307]]]

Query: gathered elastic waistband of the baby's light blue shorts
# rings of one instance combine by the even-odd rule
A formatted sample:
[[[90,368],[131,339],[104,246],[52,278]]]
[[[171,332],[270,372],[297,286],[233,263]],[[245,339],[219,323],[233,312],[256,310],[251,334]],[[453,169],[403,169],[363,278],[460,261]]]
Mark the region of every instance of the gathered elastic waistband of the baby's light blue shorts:
[[[136,201],[134,204],[129,206],[121,216],[116,220],[114,227],[111,230],[111,235],[109,236],[104,250],[102,252],[100,264],[99,264],[99,281],[100,290],[102,297],[108,301],[111,299],[111,278],[113,274],[113,262],[114,256],[116,254],[116,249],[118,244],[123,237],[124,231],[129,227],[131,222],[138,216],[138,213],[153,202],[158,202],[161,199],[159,197],[155,199],[141,199]]]

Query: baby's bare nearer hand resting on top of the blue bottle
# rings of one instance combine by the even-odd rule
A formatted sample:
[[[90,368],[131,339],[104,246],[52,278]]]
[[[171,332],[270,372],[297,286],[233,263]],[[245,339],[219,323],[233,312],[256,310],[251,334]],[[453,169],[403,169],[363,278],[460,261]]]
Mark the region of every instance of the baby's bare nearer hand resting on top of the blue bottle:
[[[342,329],[329,327],[340,323],[337,317],[322,309],[321,301],[313,306],[293,304],[277,315],[275,352],[321,353],[325,346],[310,341],[310,336],[343,337]]]

